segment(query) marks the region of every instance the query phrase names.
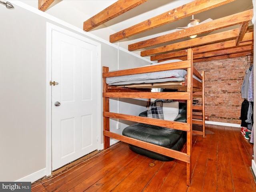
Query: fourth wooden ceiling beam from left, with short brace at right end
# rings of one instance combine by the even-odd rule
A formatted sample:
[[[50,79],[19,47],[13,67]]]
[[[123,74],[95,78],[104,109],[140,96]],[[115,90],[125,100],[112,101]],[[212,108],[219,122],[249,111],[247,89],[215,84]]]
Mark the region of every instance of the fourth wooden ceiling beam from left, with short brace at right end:
[[[134,50],[138,50],[141,48],[155,46],[158,44],[190,37],[192,35],[202,34],[205,32],[211,32],[211,31],[221,29],[221,28],[226,28],[229,26],[242,24],[244,22],[247,23],[250,20],[252,20],[252,16],[253,16],[253,10],[252,9],[247,10],[244,12],[240,12],[237,14],[223,17],[223,18],[219,18],[219,19],[216,19],[216,20],[213,20],[210,22],[199,24],[199,25],[196,25],[196,26],[193,26],[190,28],[186,28],[185,30],[179,30],[176,32],[172,32],[170,34],[166,34],[166,35],[158,36],[158,37],[151,38],[148,40],[140,41],[140,42],[137,42],[134,44],[130,44],[130,45],[128,45],[128,50],[134,51]],[[247,25],[247,27],[248,27],[248,25]],[[241,33],[242,38],[243,38],[243,34],[245,33],[244,29],[247,29],[247,27],[246,27],[246,24],[244,24],[242,30],[240,30],[242,32]]]

